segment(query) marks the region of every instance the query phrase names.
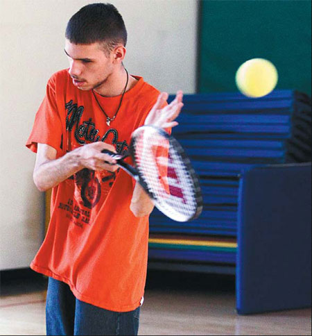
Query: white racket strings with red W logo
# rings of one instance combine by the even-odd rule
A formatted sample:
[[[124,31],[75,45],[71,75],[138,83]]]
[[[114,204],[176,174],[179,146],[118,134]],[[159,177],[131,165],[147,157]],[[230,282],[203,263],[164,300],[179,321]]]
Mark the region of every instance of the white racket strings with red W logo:
[[[178,221],[193,217],[198,208],[196,186],[177,141],[146,128],[134,142],[136,167],[155,205]]]

